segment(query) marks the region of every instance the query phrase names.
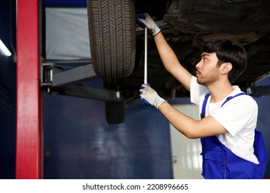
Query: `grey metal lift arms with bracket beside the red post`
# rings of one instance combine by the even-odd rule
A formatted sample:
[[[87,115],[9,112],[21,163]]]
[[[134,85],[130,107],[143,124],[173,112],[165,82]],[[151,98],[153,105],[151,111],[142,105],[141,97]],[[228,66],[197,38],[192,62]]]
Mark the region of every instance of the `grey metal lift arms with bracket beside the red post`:
[[[40,69],[41,86],[47,87],[48,92],[55,90],[58,94],[100,101],[123,100],[119,91],[78,85],[97,77],[92,64],[82,65],[71,70],[62,70],[59,65],[54,63],[43,63]]]

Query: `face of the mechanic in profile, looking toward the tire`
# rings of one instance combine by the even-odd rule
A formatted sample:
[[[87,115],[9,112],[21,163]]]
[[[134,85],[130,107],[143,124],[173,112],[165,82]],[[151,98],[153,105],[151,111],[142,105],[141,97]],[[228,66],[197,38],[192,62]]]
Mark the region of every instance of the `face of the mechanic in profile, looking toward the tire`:
[[[217,67],[217,54],[206,53],[201,54],[201,61],[197,63],[196,77],[197,82],[201,85],[208,86],[219,80],[219,68]]]

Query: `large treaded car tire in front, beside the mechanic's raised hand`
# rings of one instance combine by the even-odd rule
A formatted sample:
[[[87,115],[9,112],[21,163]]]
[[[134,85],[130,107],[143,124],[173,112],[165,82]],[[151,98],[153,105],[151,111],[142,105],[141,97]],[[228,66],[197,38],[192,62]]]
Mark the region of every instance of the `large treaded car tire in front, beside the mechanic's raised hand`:
[[[93,70],[99,77],[127,77],[135,64],[134,0],[87,0]]]

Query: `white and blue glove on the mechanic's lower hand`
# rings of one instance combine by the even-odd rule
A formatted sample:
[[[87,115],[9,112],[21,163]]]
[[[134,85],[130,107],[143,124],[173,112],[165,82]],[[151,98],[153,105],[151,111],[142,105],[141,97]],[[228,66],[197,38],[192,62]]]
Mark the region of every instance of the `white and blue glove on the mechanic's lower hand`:
[[[140,92],[141,101],[148,103],[157,109],[159,109],[159,105],[166,102],[164,99],[161,98],[161,96],[159,96],[159,94],[156,93],[156,90],[152,89],[148,85],[141,85]]]

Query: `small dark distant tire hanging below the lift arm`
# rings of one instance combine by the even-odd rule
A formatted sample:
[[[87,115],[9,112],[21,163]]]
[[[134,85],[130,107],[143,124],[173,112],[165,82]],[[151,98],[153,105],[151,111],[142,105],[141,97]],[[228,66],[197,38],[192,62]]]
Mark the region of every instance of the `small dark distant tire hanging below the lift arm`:
[[[125,119],[124,101],[105,101],[106,119],[109,124],[123,123]]]

